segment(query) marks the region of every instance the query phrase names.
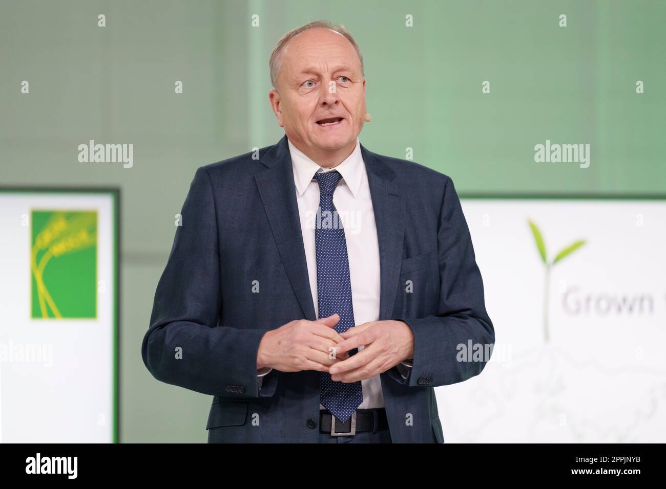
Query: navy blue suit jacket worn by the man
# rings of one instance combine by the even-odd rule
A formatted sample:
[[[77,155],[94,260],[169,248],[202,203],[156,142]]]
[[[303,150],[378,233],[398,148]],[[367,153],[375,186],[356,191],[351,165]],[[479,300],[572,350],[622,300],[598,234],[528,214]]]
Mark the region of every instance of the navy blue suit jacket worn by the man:
[[[458,345],[495,337],[470,232],[451,178],[361,151],[380,249],[379,319],[414,332],[407,379],[397,367],[380,375],[392,440],[442,443],[433,388],[481,373],[485,361],[458,361]],[[259,156],[196,170],[141,353],[159,381],[213,396],[208,442],[317,442],[320,373],[273,369],[261,388],[256,377],[267,330],[316,320],[286,136]]]

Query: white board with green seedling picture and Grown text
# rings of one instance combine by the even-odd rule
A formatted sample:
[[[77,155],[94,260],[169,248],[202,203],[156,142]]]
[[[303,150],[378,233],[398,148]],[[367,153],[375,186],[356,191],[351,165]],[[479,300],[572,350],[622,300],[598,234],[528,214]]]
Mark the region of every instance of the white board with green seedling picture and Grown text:
[[[496,343],[446,442],[663,442],[666,200],[461,198]],[[546,265],[527,220],[537,226]],[[544,297],[547,299],[545,307]]]

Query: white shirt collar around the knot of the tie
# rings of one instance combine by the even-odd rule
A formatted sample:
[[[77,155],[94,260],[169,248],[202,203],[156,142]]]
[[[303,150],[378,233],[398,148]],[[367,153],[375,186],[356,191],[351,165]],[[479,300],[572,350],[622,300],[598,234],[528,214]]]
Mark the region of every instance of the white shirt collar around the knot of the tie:
[[[310,182],[314,180],[313,176],[316,172],[329,172],[331,170],[338,170],[342,175],[342,182],[344,182],[351,190],[354,198],[358,195],[358,189],[361,184],[361,176],[363,172],[363,157],[361,154],[360,141],[356,138],[356,146],[354,151],[346,160],[338,164],[334,168],[322,168],[310,159],[304,152],[300,151],[290,140],[289,152],[292,159],[292,167],[294,168],[294,183],[296,184],[296,191],[299,196],[302,196]]]

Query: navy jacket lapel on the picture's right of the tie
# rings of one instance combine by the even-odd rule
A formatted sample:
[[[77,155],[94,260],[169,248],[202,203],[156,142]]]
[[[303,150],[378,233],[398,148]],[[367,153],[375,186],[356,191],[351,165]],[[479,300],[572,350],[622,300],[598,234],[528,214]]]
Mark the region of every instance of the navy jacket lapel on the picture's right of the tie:
[[[361,145],[366,164],[380,255],[380,321],[392,319],[398,290],[405,231],[405,198],[394,182],[395,172],[380,156]]]

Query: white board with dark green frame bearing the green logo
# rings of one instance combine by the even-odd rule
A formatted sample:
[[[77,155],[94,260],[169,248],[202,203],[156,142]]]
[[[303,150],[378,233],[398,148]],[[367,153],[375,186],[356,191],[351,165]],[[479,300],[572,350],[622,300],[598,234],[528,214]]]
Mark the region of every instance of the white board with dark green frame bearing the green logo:
[[[117,212],[0,188],[0,441],[117,441]]]

